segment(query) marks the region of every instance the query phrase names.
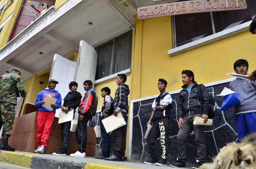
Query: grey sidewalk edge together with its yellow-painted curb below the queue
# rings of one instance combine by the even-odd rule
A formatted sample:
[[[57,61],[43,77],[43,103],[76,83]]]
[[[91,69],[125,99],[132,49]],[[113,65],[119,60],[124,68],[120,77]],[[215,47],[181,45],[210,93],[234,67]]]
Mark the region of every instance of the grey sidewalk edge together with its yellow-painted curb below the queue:
[[[143,163],[132,163],[129,161],[106,161],[93,157],[74,158],[70,156],[53,156],[51,154],[35,154],[28,152],[10,152],[0,151],[0,161],[15,164],[18,166],[36,168],[36,169],[126,169],[126,168],[146,168],[146,169],[164,169],[173,168],[170,166],[160,167],[155,165],[146,165]]]

